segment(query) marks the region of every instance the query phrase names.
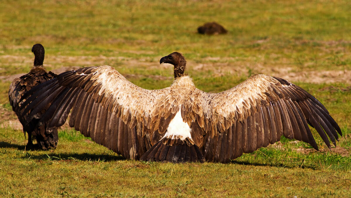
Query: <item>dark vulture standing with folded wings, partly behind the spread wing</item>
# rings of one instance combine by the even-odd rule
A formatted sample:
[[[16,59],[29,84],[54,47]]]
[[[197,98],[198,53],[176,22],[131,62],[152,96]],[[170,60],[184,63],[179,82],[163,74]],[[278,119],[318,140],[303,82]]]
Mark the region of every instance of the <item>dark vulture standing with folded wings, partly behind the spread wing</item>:
[[[46,72],[43,67],[44,62],[44,47],[41,44],[35,44],[32,47],[34,53],[34,66],[31,71],[20,78],[15,78],[8,90],[8,98],[12,110],[16,113],[19,121],[23,125],[23,132],[28,133],[27,147],[33,147],[32,136],[37,139],[38,147],[42,150],[56,148],[58,141],[58,132],[56,127],[46,127],[41,125],[36,127],[38,120],[29,119],[28,114],[23,113],[23,108],[20,108],[23,100],[21,97],[31,90],[34,86],[44,83],[57,75],[52,72]],[[45,110],[43,110],[45,111]]]

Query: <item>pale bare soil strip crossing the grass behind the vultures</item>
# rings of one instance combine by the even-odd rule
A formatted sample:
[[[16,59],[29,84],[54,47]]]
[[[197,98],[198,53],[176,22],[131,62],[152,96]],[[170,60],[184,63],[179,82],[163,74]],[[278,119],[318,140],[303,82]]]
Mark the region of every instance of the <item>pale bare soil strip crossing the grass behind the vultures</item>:
[[[13,55],[2,55],[0,57],[3,61],[6,60],[19,60],[28,62],[28,65],[32,64],[32,60],[28,59],[25,56],[13,56]],[[149,59],[132,59],[127,57],[105,57],[105,56],[47,56],[45,58],[45,66],[54,68],[51,71],[54,73],[62,73],[65,71],[77,69],[79,67],[87,66],[97,66],[97,65],[111,65],[111,66],[125,66],[133,68],[159,68],[166,69],[171,67],[168,64],[158,64],[158,59],[160,57],[154,57]],[[278,66],[266,66],[260,63],[250,63],[243,60],[236,60],[235,58],[219,58],[219,57],[207,57],[203,59],[203,63],[198,63],[195,61],[188,60],[188,72],[191,75],[191,71],[210,71],[212,76],[218,77],[223,75],[249,75],[249,74],[267,74],[280,78],[284,78],[289,81],[297,82],[306,82],[306,83],[351,83],[351,71],[349,70],[329,70],[329,71],[296,71],[296,68],[289,67],[287,65],[278,65]],[[213,61],[228,61],[228,62],[213,62]],[[58,66],[58,65],[67,65],[72,66]],[[11,76],[0,76],[2,81],[12,81],[14,78],[18,78],[21,74],[15,74]],[[147,76],[142,74],[127,74],[128,78],[144,78],[150,77],[156,80],[170,79],[169,77],[161,76]]]

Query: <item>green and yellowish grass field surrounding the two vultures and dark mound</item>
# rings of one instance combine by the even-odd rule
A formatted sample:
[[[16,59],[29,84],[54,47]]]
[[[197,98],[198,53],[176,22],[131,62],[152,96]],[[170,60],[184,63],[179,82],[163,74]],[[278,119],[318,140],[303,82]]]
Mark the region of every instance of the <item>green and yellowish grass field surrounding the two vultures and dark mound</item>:
[[[199,35],[217,21],[228,34]],[[351,3],[340,1],[1,1],[1,197],[351,197]],[[9,106],[11,81],[33,65],[62,72],[111,65],[134,84],[158,89],[173,68],[159,59],[187,58],[198,88],[220,92],[252,74],[282,77],[329,110],[343,137],[319,152],[282,138],[229,164],[125,160],[70,128],[57,149],[26,151]]]

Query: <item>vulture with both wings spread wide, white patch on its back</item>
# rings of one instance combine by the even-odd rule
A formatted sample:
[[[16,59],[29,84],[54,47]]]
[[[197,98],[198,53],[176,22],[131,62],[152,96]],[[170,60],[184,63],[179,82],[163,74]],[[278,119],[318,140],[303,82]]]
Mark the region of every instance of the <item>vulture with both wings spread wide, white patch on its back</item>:
[[[311,94],[287,80],[256,74],[220,93],[197,89],[173,52],[174,81],[160,90],[138,87],[110,66],[59,74],[24,96],[24,114],[38,125],[69,125],[127,159],[226,163],[279,141],[302,140],[318,150],[309,125],[336,145],[338,124]],[[42,114],[42,111],[47,111]]]

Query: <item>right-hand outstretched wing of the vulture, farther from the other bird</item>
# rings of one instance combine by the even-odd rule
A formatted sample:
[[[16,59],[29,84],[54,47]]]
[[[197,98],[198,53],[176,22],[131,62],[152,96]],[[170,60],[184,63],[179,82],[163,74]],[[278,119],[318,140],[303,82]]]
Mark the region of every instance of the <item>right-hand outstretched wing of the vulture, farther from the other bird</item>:
[[[311,94],[281,78],[257,74],[221,93],[193,92],[184,120],[208,161],[229,161],[278,141],[282,135],[318,150],[308,125],[330,148],[341,130]],[[326,135],[327,134],[327,135]]]

